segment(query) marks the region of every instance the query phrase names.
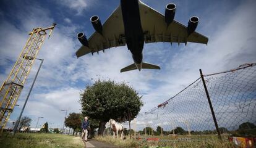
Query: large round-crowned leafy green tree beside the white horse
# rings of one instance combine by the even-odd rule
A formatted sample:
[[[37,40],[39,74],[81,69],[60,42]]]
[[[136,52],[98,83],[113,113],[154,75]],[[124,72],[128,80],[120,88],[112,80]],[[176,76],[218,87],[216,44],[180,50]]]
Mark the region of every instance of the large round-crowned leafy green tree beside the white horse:
[[[100,121],[99,134],[103,134],[110,118],[123,122],[138,115],[143,103],[141,96],[126,83],[97,80],[80,93],[83,115]]]

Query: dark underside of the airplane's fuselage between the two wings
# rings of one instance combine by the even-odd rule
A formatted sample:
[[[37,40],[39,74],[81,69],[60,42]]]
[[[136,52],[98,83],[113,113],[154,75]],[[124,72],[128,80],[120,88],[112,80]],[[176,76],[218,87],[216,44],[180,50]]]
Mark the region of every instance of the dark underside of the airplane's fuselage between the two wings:
[[[124,21],[124,33],[126,44],[132,53],[132,59],[136,67],[142,68],[144,36],[140,22],[140,10],[138,0],[121,0],[122,18]]]

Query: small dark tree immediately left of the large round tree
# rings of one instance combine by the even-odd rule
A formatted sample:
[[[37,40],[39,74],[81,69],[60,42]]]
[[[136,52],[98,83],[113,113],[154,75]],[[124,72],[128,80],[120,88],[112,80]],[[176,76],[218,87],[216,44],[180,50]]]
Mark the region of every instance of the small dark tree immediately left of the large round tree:
[[[73,135],[74,135],[75,131],[82,130],[81,117],[82,117],[82,115],[80,113],[73,112],[73,113],[69,113],[69,115],[65,119],[65,125],[68,126],[69,128],[73,128]]]

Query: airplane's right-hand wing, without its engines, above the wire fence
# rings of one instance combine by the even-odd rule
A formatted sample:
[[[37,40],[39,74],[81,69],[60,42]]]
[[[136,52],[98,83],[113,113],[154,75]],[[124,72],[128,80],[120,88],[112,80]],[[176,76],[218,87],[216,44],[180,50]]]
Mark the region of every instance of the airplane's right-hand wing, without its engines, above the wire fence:
[[[145,43],[169,42],[169,43],[202,43],[207,44],[208,38],[194,31],[187,36],[187,27],[173,20],[167,27],[164,15],[139,1],[140,20],[145,33]]]

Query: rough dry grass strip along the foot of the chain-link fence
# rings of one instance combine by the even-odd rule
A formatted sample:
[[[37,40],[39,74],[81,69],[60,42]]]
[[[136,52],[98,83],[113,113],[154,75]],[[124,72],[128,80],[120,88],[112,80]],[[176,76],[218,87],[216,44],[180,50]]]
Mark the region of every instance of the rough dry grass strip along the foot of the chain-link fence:
[[[164,137],[163,139],[168,139],[169,137]],[[234,147],[233,144],[229,143],[226,140],[218,141],[218,139],[212,139],[208,141],[145,141],[145,140],[136,140],[136,139],[117,139],[111,136],[97,136],[95,138],[98,141],[108,142],[119,147],[168,147],[168,148],[179,148],[179,147],[202,147],[202,148],[219,148],[219,147]]]

